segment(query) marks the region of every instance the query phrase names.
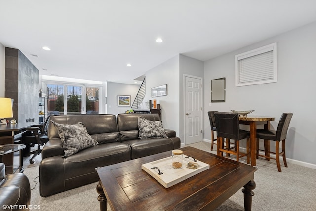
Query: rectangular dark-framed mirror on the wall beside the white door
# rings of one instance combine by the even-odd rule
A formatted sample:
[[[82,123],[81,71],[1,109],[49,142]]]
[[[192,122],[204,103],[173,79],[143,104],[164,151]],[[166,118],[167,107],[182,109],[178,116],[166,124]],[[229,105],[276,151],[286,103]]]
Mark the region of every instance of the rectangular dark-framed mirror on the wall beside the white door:
[[[225,102],[225,78],[211,80],[211,102]]]

